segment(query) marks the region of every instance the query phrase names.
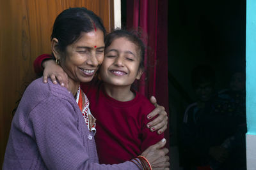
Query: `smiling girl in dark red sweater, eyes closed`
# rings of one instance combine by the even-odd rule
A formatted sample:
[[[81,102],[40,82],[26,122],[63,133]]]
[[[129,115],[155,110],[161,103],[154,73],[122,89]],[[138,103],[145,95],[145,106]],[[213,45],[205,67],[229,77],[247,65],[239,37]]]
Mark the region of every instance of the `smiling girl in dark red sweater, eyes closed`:
[[[131,89],[143,73],[145,46],[138,36],[118,30],[106,36],[99,79],[81,84],[97,119],[97,152],[104,164],[129,160],[163,138],[147,128],[154,105]],[[47,67],[45,67],[47,69]]]

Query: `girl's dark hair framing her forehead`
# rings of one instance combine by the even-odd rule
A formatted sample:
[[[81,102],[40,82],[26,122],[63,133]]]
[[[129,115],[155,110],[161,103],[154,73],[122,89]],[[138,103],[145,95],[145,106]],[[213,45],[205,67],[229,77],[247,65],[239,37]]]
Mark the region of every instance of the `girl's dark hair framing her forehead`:
[[[109,45],[116,39],[116,38],[127,38],[129,41],[134,43],[137,46],[141,60],[140,60],[140,68],[144,68],[144,56],[145,56],[145,45],[143,41],[135,34],[135,32],[126,31],[124,29],[118,29],[111,33],[109,33],[105,37],[105,49],[108,48]]]

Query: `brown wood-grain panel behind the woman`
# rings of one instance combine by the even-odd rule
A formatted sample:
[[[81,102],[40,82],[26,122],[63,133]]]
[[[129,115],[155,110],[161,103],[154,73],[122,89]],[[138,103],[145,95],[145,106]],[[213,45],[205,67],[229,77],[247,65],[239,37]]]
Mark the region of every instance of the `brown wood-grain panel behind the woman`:
[[[84,6],[113,28],[113,0],[0,0],[0,167],[15,102],[34,78],[33,60],[50,53],[52,25],[58,13]],[[112,3],[113,4],[113,3]]]

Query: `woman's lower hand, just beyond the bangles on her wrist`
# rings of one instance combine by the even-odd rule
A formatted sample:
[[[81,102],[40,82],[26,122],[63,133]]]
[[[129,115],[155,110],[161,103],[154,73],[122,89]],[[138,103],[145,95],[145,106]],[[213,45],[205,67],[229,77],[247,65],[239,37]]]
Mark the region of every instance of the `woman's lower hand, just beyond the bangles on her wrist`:
[[[145,157],[153,170],[168,170],[170,166],[169,157],[166,155],[169,150],[163,148],[166,144],[166,139],[162,139],[155,145],[149,146],[141,155]]]

